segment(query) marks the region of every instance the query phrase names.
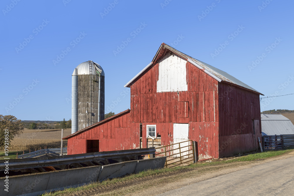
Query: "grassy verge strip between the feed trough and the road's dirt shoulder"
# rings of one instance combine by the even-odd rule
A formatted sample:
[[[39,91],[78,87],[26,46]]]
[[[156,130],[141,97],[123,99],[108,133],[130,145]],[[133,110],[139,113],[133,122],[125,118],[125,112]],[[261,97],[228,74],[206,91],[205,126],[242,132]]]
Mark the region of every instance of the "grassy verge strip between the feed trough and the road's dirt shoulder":
[[[225,165],[238,164],[238,162],[248,163],[250,161],[264,160],[266,158],[293,152],[294,151],[293,149],[294,148],[288,148],[286,150],[277,150],[277,151],[273,150],[273,151],[267,151],[263,153],[249,154],[246,156],[242,156],[242,157],[238,157],[238,158],[234,158],[230,160],[224,160],[224,161],[218,160],[218,161],[209,162],[209,163],[198,162],[198,163],[195,163],[195,164],[193,163],[186,166],[146,170],[136,174],[126,175],[124,177],[104,180],[102,182],[92,182],[88,185],[84,185],[81,187],[68,188],[65,190],[55,191],[55,192],[48,192],[48,193],[44,193],[42,196],[60,196],[60,195],[74,195],[74,194],[78,195],[79,192],[87,192],[87,190],[91,190],[91,189],[104,189],[104,187],[106,188],[106,187],[115,186],[116,184],[119,184],[119,183],[132,182],[132,181],[136,181],[138,179],[144,179],[144,178],[148,179],[148,177],[154,177],[156,175],[158,175],[158,177],[161,177],[166,174],[172,175],[173,173],[186,172],[186,171],[188,172],[197,168],[199,169],[199,172],[216,170],[217,168],[212,169],[212,167],[214,166],[225,167]],[[185,175],[183,175],[182,177],[185,177]]]

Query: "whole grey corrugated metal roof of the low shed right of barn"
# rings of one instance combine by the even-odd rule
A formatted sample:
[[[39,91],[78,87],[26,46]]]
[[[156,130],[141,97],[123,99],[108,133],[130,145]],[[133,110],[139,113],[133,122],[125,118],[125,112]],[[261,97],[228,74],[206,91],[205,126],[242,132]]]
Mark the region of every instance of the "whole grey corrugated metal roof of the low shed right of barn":
[[[293,123],[281,114],[261,114],[262,135],[292,135]]]

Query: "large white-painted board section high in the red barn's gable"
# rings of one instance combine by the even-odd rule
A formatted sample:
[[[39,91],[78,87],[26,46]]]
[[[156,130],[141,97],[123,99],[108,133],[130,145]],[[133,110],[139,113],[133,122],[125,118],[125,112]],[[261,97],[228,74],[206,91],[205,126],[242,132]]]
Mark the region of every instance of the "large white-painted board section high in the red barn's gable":
[[[187,61],[176,54],[167,54],[158,63],[157,92],[188,91]]]

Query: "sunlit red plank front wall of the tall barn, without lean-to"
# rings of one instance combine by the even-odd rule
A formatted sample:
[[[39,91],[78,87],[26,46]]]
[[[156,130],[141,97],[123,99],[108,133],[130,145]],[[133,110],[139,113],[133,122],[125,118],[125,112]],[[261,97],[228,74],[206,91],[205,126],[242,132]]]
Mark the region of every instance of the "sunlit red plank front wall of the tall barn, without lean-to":
[[[156,124],[162,145],[173,142],[173,123],[189,123],[189,139],[198,142],[201,158],[218,158],[218,81],[186,64],[188,91],[157,93],[158,63],[131,85],[131,122]],[[143,139],[143,147],[146,141]]]

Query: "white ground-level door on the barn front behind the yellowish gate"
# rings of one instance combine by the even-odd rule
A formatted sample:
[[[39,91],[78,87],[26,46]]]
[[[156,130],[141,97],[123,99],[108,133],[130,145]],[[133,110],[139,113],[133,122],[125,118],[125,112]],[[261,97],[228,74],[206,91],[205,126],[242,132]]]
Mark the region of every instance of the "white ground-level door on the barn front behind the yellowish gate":
[[[188,141],[188,137],[189,137],[189,124],[173,123],[173,143],[175,144],[175,143],[183,142],[180,144],[173,145],[173,149],[179,148],[181,146],[181,156],[189,154],[189,151],[182,153],[183,151],[189,150],[189,147],[182,148],[184,146],[189,145],[189,142],[184,142],[184,141]],[[177,154],[177,153],[180,153],[180,149],[173,150],[173,154]],[[174,155],[173,157],[180,157],[180,154]]]

